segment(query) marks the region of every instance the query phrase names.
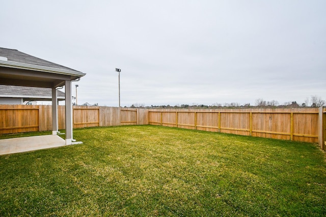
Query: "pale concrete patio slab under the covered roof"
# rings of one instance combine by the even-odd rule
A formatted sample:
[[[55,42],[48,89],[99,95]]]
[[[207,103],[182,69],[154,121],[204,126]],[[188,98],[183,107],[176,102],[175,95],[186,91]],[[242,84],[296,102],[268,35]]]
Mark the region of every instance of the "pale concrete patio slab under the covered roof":
[[[0,155],[53,148],[66,145],[58,135],[31,136],[0,140]]]

